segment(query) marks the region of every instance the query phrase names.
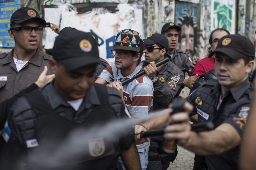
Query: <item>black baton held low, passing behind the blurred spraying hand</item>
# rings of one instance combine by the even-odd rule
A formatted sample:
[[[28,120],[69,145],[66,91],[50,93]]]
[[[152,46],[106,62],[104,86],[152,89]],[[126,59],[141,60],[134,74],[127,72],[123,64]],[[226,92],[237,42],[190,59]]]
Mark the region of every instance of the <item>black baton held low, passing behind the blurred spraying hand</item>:
[[[195,131],[195,132],[209,131],[209,130],[212,130],[213,128],[214,128],[214,125],[212,122],[191,124],[191,131]],[[150,138],[150,137],[157,137],[157,136],[163,136],[163,135],[164,135],[164,129],[157,129],[157,130],[143,131],[140,137]]]

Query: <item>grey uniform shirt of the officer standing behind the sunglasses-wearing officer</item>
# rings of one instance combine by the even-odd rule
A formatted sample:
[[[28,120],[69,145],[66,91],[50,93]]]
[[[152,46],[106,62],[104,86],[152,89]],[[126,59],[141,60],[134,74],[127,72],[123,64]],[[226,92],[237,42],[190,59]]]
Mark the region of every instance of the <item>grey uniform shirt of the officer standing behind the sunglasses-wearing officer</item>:
[[[181,49],[175,49],[172,57],[168,54],[167,56],[172,63],[174,63],[180,70],[183,71],[184,75],[185,72],[187,72],[189,75],[191,74],[188,72],[188,70],[192,60],[184,51]]]

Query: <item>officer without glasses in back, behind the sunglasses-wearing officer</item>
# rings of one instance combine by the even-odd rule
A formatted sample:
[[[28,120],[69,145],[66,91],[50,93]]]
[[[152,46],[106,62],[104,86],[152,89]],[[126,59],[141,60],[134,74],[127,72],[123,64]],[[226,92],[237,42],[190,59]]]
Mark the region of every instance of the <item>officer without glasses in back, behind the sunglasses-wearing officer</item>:
[[[174,63],[178,68],[180,68],[185,76],[185,72],[188,73],[188,75],[191,74],[189,72],[189,66],[192,63],[192,60],[190,57],[181,49],[176,49],[179,41],[179,31],[180,26],[174,24],[173,22],[168,22],[164,24],[162,27],[161,33],[166,36],[169,43],[169,49],[167,56],[169,57],[170,61]],[[183,85],[192,88],[194,82],[196,81],[197,75],[191,76],[188,79],[184,79]]]

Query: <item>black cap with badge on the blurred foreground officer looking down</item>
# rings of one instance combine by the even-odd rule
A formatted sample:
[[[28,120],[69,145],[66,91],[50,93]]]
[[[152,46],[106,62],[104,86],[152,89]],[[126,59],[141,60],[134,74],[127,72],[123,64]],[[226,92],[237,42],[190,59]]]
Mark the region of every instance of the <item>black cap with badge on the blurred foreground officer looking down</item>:
[[[53,59],[68,70],[76,70],[100,61],[97,42],[92,33],[69,30],[61,33],[53,46]]]

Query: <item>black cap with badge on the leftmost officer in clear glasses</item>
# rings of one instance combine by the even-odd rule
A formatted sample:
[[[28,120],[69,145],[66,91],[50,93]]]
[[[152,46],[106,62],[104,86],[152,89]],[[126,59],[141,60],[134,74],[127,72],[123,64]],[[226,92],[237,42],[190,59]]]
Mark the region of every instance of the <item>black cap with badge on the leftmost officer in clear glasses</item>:
[[[11,24],[20,24],[29,19],[38,20],[42,26],[46,25],[46,21],[40,17],[39,13],[35,9],[29,7],[21,7],[20,9],[13,12],[11,17]]]

